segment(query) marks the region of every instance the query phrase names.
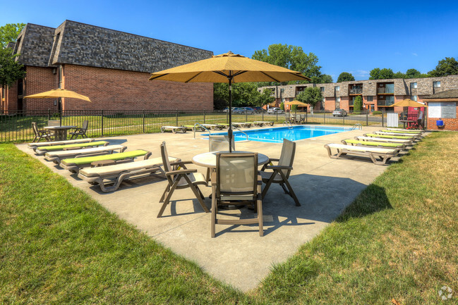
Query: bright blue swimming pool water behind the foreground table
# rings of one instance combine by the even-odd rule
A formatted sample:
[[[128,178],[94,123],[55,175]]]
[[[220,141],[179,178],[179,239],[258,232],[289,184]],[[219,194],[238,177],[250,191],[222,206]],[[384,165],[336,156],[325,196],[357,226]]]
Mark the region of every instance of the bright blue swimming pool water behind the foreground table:
[[[243,130],[248,135],[248,139],[258,142],[279,143],[283,139],[297,141],[299,139],[310,139],[322,135],[333,135],[338,132],[349,131],[349,127],[323,127],[323,126],[293,126],[293,127],[273,127],[254,130]],[[207,136],[208,134],[204,134]],[[212,135],[227,135],[227,132],[212,133]],[[244,141],[246,135],[238,130],[234,130],[234,140]]]

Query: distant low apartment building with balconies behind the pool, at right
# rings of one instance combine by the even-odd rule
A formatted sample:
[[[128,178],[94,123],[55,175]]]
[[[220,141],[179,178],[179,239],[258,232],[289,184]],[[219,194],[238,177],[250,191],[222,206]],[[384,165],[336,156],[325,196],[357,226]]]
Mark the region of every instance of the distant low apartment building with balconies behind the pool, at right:
[[[403,99],[413,99],[424,103],[423,97],[449,89],[458,89],[458,75],[444,77],[407,78],[391,80],[356,80],[351,82],[333,82],[328,84],[300,84],[260,87],[272,90],[278,107],[284,101],[293,101],[297,94],[306,87],[319,87],[323,92],[323,102],[315,106],[316,110],[333,111],[342,108],[353,111],[354,99],[361,96],[363,109],[368,111],[402,111],[401,107],[391,106]]]

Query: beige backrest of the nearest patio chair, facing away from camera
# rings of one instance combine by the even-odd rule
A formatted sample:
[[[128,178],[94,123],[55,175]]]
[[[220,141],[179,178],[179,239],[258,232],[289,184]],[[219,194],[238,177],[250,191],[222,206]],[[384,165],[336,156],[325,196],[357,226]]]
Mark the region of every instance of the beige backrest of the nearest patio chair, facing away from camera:
[[[217,153],[216,196],[219,200],[241,200],[257,195],[258,153]]]

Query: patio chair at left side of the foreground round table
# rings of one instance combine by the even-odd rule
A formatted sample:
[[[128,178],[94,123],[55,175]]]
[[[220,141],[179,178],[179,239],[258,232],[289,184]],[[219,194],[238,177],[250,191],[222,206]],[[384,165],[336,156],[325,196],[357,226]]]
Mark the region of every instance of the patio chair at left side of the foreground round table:
[[[162,142],[161,144],[161,155],[168,185],[165,188],[161,199],[159,199],[159,202],[163,202],[163,204],[159,210],[159,213],[157,213],[157,218],[162,217],[162,213],[164,213],[167,204],[169,204],[171,195],[174,194],[175,189],[186,189],[188,187],[193,191],[203,210],[206,213],[210,212],[203,202],[204,197],[198,187],[199,185],[208,186],[207,181],[205,181],[205,177],[201,173],[198,173],[196,169],[186,168],[186,164],[192,163],[191,161],[179,161],[171,163],[169,161],[169,154],[167,154],[167,147],[165,146],[165,142]],[[172,168],[172,166],[174,167]],[[176,167],[183,169],[177,170]]]

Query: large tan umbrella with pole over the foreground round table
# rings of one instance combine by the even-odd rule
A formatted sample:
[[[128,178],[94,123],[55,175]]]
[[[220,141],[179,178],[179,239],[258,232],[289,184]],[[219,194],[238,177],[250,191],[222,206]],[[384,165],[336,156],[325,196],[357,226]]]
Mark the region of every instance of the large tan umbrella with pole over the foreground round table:
[[[232,151],[232,83],[233,82],[287,82],[311,80],[299,72],[256,61],[231,51],[202,61],[152,73],[150,80],[174,82],[227,82],[229,84],[229,151]]]

